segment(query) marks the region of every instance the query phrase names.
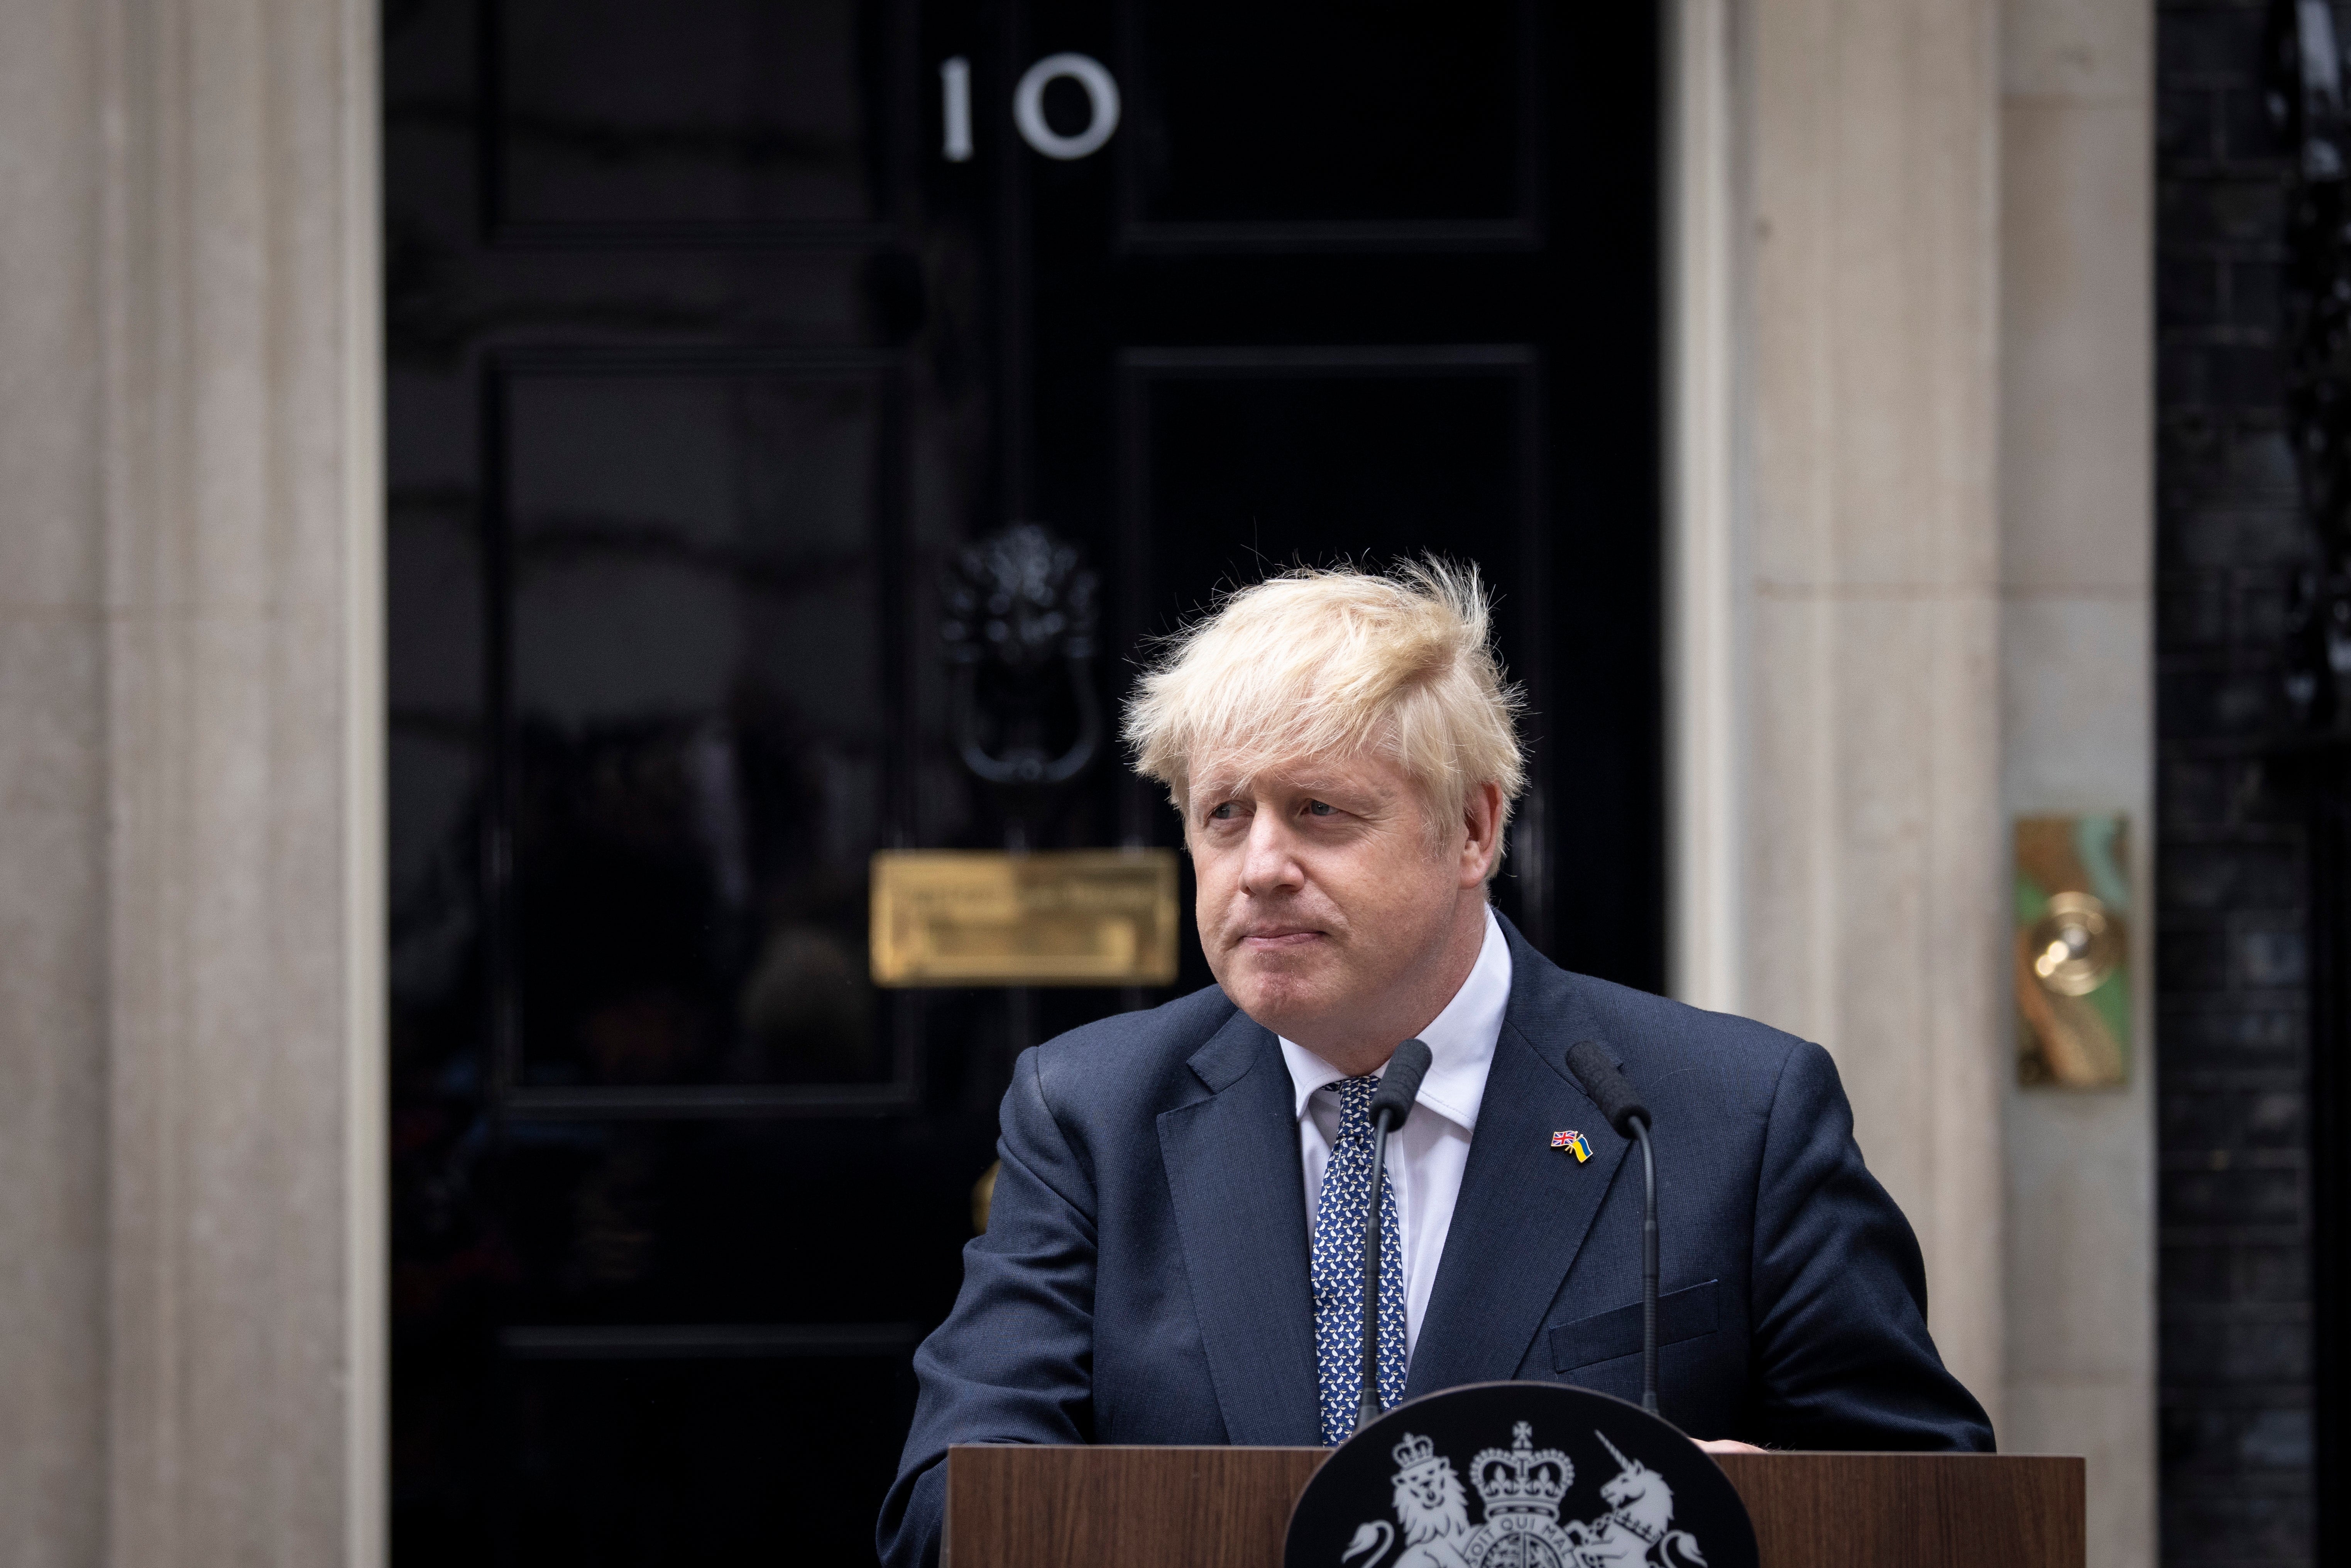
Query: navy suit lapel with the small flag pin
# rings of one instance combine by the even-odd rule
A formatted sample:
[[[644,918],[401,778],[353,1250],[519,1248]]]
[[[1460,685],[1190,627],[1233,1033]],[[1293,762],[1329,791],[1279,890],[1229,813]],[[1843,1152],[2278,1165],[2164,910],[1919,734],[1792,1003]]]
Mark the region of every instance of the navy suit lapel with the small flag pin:
[[[1629,1147],[1566,1070],[1568,976],[1505,922],[1512,987],[1406,1396],[1516,1378]],[[1580,1131],[1592,1159],[1552,1147]]]

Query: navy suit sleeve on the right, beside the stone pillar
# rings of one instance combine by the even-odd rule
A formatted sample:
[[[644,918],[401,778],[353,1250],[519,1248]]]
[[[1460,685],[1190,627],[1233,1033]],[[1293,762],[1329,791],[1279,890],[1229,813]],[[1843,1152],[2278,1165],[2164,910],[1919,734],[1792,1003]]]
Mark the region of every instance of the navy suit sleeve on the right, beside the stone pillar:
[[[1918,1237],[1862,1164],[1829,1053],[1799,1044],[1763,1135],[1751,1274],[1759,1441],[1991,1450],[1925,1328]]]

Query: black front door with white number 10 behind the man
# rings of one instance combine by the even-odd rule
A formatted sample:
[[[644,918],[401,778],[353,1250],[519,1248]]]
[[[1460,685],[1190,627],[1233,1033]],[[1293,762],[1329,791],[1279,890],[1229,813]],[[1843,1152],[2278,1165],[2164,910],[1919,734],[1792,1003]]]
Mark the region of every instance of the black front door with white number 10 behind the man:
[[[1660,983],[1653,26],[388,5],[404,1563],[872,1554],[1011,1053],[1171,994],[868,978],[877,849],[1176,844],[1107,748],[966,766],[1009,524],[1098,576],[1105,708],[1218,585],[1474,559],[1500,903]]]

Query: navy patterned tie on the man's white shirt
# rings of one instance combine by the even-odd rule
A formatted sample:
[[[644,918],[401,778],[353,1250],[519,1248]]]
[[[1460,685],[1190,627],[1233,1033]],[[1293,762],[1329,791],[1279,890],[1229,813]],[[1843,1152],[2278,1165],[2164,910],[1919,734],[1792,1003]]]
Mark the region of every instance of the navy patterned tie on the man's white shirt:
[[[1338,1143],[1314,1208],[1314,1371],[1324,1443],[1354,1434],[1364,1403],[1364,1218],[1371,1213],[1371,1091],[1378,1074],[1324,1084],[1338,1091]],[[1380,1406],[1404,1399],[1404,1227],[1396,1185],[1380,1182]]]

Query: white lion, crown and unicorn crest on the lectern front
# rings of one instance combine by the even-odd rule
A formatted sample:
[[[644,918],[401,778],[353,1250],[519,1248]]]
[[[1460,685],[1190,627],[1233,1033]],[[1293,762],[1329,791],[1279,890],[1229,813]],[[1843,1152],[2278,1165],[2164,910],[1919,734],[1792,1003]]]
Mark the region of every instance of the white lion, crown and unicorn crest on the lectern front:
[[[1617,1474],[1601,1483],[1606,1512],[1561,1521],[1575,1486],[1575,1460],[1535,1448],[1533,1422],[1512,1425],[1509,1448],[1486,1448],[1469,1462],[1483,1521],[1469,1523],[1469,1497],[1453,1460],[1427,1436],[1406,1432],[1392,1450],[1394,1523],[1364,1523],[1340,1568],[1704,1568],[1704,1552],[1674,1528],[1674,1490],[1665,1476],[1594,1432]],[[1401,1540],[1401,1554],[1396,1542]]]

